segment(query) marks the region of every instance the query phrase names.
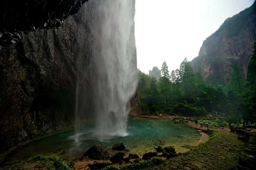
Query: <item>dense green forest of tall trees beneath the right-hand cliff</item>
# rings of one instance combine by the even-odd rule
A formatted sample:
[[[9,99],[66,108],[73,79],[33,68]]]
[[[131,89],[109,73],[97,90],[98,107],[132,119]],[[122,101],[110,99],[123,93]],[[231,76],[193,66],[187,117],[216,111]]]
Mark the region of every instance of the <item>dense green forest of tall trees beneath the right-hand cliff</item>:
[[[256,46],[254,46],[254,49]],[[155,78],[139,71],[139,97],[144,113],[169,113],[184,116],[225,115],[228,121],[241,119],[255,122],[256,50],[251,57],[247,80],[238,65],[230,75],[230,90],[224,93],[222,84],[207,85],[200,73],[194,73],[190,62],[183,60],[180,68],[168,70],[162,64],[159,83]]]

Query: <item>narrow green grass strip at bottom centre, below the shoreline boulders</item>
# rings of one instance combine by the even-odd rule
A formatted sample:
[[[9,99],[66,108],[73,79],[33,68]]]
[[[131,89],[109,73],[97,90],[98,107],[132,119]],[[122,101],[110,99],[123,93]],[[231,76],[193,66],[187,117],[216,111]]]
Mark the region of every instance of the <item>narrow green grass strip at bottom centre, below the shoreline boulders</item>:
[[[153,167],[155,165],[160,165],[164,162],[166,162],[164,159],[155,157],[149,160],[142,160],[138,163],[132,163],[126,166],[122,166],[121,168],[110,165],[110,166],[106,166],[102,170],[138,170],[138,169]]]

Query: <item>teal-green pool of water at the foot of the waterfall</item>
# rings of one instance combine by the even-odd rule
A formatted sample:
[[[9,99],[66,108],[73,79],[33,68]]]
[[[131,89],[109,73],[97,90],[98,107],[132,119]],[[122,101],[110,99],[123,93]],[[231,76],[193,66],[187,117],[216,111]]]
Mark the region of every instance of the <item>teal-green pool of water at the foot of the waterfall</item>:
[[[146,152],[154,152],[155,147],[174,146],[176,152],[186,152],[183,145],[195,145],[201,135],[190,126],[183,123],[174,123],[170,120],[149,119],[149,118],[129,118],[128,136],[113,137],[100,140],[93,125],[80,129],[80,134],[75,134],[74,130],[62,132],[57,135],[42,138],[32,142],[10,157],[13,159],[25,160],[35,154],[58,155],[65,159],[74,156],[81,156],[87,149],[98,143],[112,147],[114,143],[124,143],[129,153],[136,153],[142,156]]]

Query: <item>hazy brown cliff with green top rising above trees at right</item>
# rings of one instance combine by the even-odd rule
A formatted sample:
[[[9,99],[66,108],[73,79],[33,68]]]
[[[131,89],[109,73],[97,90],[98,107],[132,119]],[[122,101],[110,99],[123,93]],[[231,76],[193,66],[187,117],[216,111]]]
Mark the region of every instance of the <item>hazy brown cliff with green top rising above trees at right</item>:
[[[228,18],[203,41],[198,57],[191,61],[194,72],[208,82],[227,83],[232,67],[238,64],[244,77],[256,39],[256,2]]]

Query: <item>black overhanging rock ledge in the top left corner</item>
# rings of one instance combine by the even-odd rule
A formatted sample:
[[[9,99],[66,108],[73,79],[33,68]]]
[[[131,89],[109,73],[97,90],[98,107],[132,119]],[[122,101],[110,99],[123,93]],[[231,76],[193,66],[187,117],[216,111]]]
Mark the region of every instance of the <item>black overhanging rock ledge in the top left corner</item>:
[[[0,32],[60,27],[88,0],[2,0],[0,2]]]

